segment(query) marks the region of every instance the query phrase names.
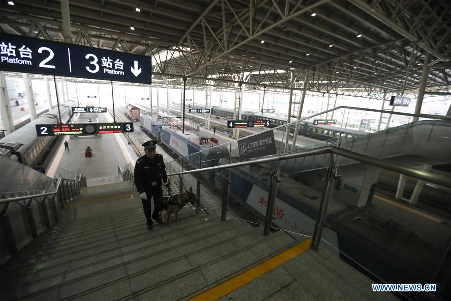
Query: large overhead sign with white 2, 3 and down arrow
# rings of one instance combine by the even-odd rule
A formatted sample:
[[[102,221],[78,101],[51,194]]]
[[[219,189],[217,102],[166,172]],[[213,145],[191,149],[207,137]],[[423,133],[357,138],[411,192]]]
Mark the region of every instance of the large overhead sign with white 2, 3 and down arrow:
[[[0,34],[0,70],[151,83],[150,57]]]

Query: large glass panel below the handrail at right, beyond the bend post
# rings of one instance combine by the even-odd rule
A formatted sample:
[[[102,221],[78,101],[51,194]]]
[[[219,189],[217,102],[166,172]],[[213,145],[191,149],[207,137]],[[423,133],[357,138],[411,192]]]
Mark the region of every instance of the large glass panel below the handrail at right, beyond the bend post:
[[[444,204],[449,189],[442,188],[440,194],[437,187],[423,186],[416,203],[409,203],[417,179],[409,178],[396,198],[399,174],[354,163],[339,166],[337,175],[326,219],[336,240],[323,236],[321,245],[334,247],[340,258],[375,283],[444,281],[432,275],[451,237],[443,217],[451,212],[443,208],[438,214],[428,208],[431,201]],[[403,294],[410,299],[422,296]]]

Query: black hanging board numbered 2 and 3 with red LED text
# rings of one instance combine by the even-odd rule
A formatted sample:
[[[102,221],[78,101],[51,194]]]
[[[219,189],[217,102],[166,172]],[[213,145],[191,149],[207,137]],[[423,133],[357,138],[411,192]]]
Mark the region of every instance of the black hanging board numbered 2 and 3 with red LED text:
[[[62,135],[87,136],[133,132],[133,122],[36,124],[35,126],[38,137]]]

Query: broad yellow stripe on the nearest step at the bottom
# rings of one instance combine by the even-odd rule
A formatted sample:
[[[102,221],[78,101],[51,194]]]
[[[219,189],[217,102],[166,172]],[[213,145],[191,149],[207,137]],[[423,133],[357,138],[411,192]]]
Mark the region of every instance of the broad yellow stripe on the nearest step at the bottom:
[[[207,291],[202,292],[201,294],[198,294],[191,300],[217,300],[257,279],[263,274],[266,274],[267,272],[275,269],[276,267],[298,256],[299,254],[304,253],[305,251],[310,249],[311,242],[312,241],[308,239],[298,245],[295,245],[294,247],[280,253],[279,255],[274,256],[273,258],[268,259],[267,261],[262,262],[257,266],[254,266],[244,273],[241,273],[240,275],[235,276],[232,279],[219,284],[218,286],[215,286]]]

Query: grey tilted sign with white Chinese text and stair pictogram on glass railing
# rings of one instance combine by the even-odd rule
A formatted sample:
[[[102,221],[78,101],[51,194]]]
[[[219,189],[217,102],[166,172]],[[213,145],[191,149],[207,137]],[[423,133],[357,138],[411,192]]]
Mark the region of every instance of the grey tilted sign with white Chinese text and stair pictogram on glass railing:
[[[240,160],[276,154],[274,132],[268,130],[258,135],[238,140]]]

